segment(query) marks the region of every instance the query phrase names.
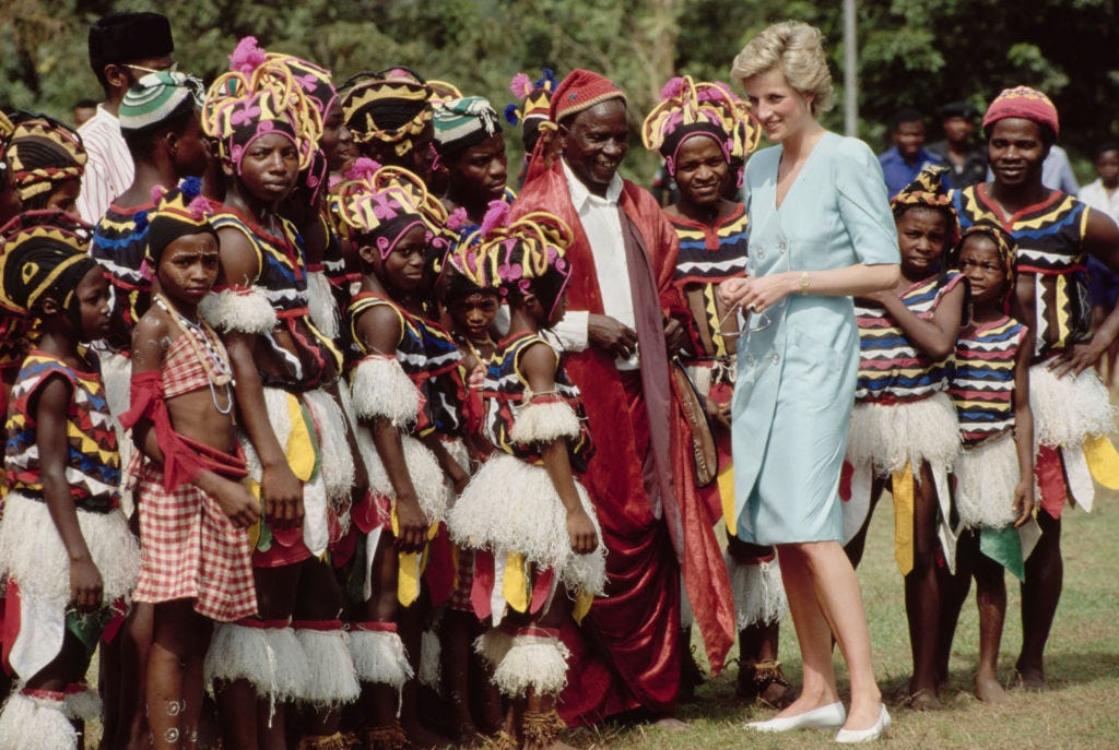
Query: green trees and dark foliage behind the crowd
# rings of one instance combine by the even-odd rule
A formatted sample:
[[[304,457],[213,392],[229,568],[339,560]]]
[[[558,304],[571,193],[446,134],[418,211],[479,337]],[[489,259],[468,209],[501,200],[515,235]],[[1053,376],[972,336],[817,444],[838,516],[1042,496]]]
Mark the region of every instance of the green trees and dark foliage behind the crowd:
[[[1115,0],[858,1],[861,136],[878,149],[890,114],[934,115],[949,101],[980,108],[1005,86],[1044,89],[1056,102],[1062,143],[1085,156],[1119,136],[1119,3]],[[166,3],[0,0],[0,106],[68,117],[100,89],[86,56],[91,21],[114,10],[171,18],[182,69],[211,79],[237,39],[336,72],[405,64],[501,110],[509,79],[547,66],[610,75],[627,89],[634,126],[674,73],[726,78],[742,45],[767,25],[793,18],[829,40],[836,82],[843,63],[841,3],[787,0],[303,0],[284,8],[252,0]],[[841,92],[839,92],[841,94]],[[841,99],[840,99],[841,101]],[[841,126],[838,108],[827,124]],[[519,153],[511,133],[510,151]],[[628,171],[648,178],[656,160],[637,148]],[[639,153],[641,152],[641,153]],[[1083,163],[1081,162],[1081,167]],[[1081,169],[1081,178],[1089,174]]]

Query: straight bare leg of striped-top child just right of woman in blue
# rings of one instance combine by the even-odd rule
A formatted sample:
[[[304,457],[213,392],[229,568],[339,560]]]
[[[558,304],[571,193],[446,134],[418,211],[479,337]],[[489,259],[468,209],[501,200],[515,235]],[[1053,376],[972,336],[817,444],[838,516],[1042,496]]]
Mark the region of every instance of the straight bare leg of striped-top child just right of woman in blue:
[[[921,464],[920,480],[913,486],[913,569],[905,576],[905,616],[913,654],[910,708],[932,711],[943,708],[937,696],[937,624],[940,617],[937,516],[940,506],[928,463]]]

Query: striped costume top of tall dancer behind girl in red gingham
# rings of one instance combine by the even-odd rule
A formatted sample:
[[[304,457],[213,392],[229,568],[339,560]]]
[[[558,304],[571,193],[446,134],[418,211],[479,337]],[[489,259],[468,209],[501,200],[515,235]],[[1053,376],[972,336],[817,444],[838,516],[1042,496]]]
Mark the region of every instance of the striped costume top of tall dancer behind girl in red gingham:
[[[272,304],[281,329],[286,330],[295,353],[282,346],[274,335],[264,336],[270,354],[283,363],[284,373],[261,372],[261,382],[289,390],[309,390],[323,382],[328,362],[341,370],[341,352],[311,322],[308,307],[307,267],[303,239],[295,227],[280,218],[282,234],[270,234],[251,218],[222,206],[210,216],[214,229],[235,229],[243,234],[256,253],[257,274],[247,285],[258,286]],[[220,291],[215,287],[215,291]]]

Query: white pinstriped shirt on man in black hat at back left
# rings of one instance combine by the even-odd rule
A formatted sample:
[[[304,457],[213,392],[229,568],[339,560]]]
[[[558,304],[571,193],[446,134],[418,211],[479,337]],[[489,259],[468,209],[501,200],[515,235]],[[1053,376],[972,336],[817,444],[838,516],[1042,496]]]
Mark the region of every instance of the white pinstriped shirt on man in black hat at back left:
[[[113,200],[132,184],[135,167],[121,135],[121,121],[103,104],[97,105],[97,114],[77,132],[87,154],[77,212],[84,220],[96,225]]]

